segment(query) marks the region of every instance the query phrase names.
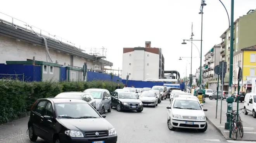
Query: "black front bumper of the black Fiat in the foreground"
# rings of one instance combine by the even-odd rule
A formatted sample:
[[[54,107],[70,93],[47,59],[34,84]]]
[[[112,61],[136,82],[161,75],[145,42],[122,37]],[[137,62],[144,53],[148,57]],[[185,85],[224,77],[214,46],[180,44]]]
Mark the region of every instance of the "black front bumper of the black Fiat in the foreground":
[[[75,137],[66,136],[66,138],[61,138],[61,142],[62,143],[93,143],[93,141],[102,141],[102,143],[116,143],[117,138],[118,138],[117,135],[102,136],[97,138],[75,138]]]

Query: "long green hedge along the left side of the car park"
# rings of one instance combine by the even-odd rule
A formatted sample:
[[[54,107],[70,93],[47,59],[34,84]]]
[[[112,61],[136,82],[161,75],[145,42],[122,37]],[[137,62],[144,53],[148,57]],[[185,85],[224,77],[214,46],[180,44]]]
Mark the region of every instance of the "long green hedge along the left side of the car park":
[[[16,119],[19,114],[30,111],[39,98],[54,97],[61,92],[84,91],[88,88],[103,88],[114,91],[118,83],[110,81],[90,82],[22,82],[0,80],[0,124]],[[120,84],[124,87],[124,84]]]

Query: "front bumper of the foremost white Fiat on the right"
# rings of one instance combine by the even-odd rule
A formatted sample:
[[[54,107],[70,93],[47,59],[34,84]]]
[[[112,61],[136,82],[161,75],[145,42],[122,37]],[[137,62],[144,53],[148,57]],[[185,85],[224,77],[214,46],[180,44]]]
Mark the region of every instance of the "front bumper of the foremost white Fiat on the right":
[[[187,124],[188,122],[192,122],[192,124]],[[171,119],[171,125],[175,128],[203,129],[205,124],[206,124],[206,120],[196,121],[196,120]]]

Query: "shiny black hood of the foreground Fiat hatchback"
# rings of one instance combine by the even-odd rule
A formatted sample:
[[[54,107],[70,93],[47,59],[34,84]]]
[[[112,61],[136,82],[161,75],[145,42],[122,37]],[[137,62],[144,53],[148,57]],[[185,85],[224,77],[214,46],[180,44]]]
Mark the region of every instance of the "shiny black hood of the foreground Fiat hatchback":
[[[104,118],[89,119],[59,119],[59,121],[69,130],[75,131],[104,131],[114,128]]]

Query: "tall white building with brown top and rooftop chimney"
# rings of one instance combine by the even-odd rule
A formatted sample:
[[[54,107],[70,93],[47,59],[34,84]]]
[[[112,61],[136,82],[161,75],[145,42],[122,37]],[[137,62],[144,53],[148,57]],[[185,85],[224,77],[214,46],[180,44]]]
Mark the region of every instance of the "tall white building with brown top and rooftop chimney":
[[[164,56],[161,48],[152,48],[151,42],[144,47],[123,48],[122,79],[144,81],[164,78]]]

